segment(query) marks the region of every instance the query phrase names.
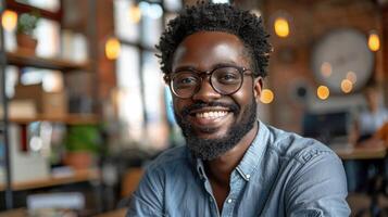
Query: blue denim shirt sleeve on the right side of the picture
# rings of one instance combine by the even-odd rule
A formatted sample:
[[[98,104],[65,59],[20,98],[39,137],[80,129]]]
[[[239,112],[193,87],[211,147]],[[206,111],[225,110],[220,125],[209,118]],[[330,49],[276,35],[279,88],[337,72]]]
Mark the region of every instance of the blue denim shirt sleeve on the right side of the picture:
[[[287,216],[350,215],[343,166],[330,151],[315,153],[292,176],[287,189]]]

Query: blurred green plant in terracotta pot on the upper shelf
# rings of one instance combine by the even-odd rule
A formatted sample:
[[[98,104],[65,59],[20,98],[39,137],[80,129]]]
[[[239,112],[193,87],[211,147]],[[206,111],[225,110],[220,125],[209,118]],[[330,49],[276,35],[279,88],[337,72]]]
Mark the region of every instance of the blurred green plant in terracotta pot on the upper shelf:
[[[18,50],[27,54],[35,54],[38,40],[34,37],[34,30],[39,21],[37,12],[22,13],[17,18],[16,42]]]

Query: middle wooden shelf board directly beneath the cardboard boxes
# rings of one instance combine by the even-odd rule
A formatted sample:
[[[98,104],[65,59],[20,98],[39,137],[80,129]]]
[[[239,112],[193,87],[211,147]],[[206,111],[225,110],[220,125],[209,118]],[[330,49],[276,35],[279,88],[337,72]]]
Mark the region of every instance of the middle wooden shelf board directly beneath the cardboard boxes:
[[[68,114],[63,117],[50,117],[48,115],[37,115],[30,118],[15,118],[11,117],[9,119],[11,123],[16,124],[28,124],[33,122],[52,122],[52,123],[63,123],[67,125],[96,125],[100,123],[100,118],[95,114]]]

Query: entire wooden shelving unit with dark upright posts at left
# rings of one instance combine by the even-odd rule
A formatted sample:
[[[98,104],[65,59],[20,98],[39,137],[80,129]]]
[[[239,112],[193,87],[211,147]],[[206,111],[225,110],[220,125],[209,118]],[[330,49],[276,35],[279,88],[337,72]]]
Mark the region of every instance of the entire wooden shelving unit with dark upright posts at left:
[[[60,0],[62,1],[62,0]],[[92,10],[96,9],[95,1],[88,1],[91,12],[89,13],[88,20],[95,14]],[[62,16],[63,16],[63,9],[61,8],[57,12],[51,12],[42,9],[38,9],[32,5],[18,3],[15,0],[0,0],[1,10],[12,10],[16,11],[17,13],[26,13],[32,11],[37,11],[41,17],[55,21],[61,24]],[[1,11],[0,11],[1,12]],[[88,22],[89,24],[92,23],[91,21]],[[96,181],[100,179],[99,169],[86,169],[86,170],[74,170],[73,174],[66,176],[49,176],[48,178],[40,178],[36,180],[29,181],[18,181],[14,182],[11,177],[11,165],[10,165],[10,141],[9,141],[9,126],[13,125],[21,125],[26,126],[34,122],[50,122],[50,123],[61,123],[66,126],[74,126],[74,125],[98,125],[101,123],[101,118],[98,114],[65,114],[63,116],[50,116],[50,114],[38,114],[32,118],[24,118],[24,117],[9,117],[8,110],[8,99],[5,95],[5,67],[8,65],[13,65],[17,67],[35,67],[35,68],[43,68],[43,69],[54,69],[60,71],[63,74],[72,73],[72,72],[96,72],[96,66],[93,65],[95,54],[91,52],[93,48],[91,48],[93,42],[93,34],[92,31],[96,30],[96,27],[88,25],[87,29],[87,37],[89,40],[89,56],[90,59],[85,62],[72,62],[68,60],[63,60],[60,58],[41,58],[36,55],[30,55],[23,50],[17,51],[5,51],[4,49],[4,29],[0,25],[0,66],[1,66],[1,85],[2,85],[2,95],[1,95],[1,106],[3,108],[3,116],[0,117],[0,135],[3,138],[4,144],[4,163],[5,163],[5,182],[0,184],[0,191],[5,192],[5,207],[8,209],[13,208],[13,191],[21,191],[21,190],[33,190],[38,188],[46,188],[46,187],[57,187],[62,184],[70,184],[76,182],[85,182],[85,181]],[[95,95],[96,97],[96,95]]]

